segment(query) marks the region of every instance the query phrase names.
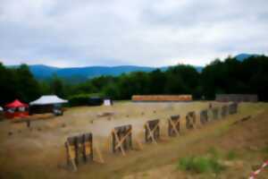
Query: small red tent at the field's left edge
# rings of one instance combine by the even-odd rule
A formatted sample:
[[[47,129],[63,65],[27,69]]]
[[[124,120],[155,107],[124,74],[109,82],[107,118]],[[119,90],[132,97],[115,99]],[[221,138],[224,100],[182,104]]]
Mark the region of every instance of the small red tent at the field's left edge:
[[[29,115],[29,105],[21,103],[21,101],[18,99],[14,100],[10,104],[5,105],[4,107],[4,115],[6,118],[24,117]]]

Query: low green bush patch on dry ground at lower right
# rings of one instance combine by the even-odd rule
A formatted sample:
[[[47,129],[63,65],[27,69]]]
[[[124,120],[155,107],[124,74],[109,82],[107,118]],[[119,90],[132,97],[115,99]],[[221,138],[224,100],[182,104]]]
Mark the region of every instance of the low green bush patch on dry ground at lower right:
[[[180,158],[179,168],[181,170],[197,174],[208,172],[218,174],[224,169],[224,167],[215,158],[205,157]]]

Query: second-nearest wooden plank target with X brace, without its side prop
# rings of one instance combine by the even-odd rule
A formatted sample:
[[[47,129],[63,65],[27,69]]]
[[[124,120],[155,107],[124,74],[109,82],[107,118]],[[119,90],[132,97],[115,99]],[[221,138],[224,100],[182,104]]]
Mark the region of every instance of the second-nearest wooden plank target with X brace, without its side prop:
[[[122,125],[115,127],[112,132],[113,153],[121,151],[125,155],[125,150],[132,149],[132,126]]]

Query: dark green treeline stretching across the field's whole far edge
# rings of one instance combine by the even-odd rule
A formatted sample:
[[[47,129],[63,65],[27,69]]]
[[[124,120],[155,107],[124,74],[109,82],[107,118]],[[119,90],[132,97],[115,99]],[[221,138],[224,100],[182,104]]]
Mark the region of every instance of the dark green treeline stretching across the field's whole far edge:
[[[197,72],[191,65],[179,64],[166,71],[131,72],[120,76],[101,76],[79,84],[54,76],[37,81],[27,65],[6,68],[0,64],[1,105],[20,98],[29,102],[45,94],[76,98],[96,94],[113,99],[130,99],[133,94],[192,94],[195,99],[214,99],[217,93],[258,94],[268,100],[268,57],[252,56],[240,62],[219,59]]]

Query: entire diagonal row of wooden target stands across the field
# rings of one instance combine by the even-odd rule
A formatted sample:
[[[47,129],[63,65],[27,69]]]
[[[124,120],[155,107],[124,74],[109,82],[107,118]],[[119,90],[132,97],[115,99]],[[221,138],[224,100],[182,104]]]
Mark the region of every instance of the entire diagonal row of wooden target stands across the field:
[[[209,113],[211,113],[211,115],[209,115]],[[199,120],[200,124],[206,124],[209,121],[224,118],[226,115],[234,115],[236,113],[238,113],[238,103],[232,103],[222,107],[201,110],[199,113]],[[170,137],[178,136],[180,134],[180,125],[180,115],[172,115],[168,119],[168,135]],[[186,129],[195,129],[196,126],[196,112],[188,112],[186,115]],[[144,127],[145,143],[156,144],[160,140],[160,120],[155,119],[147,121]],[[133,142],[137,144],[138,149],[142,149],[142,143],[137,139],[132,139],[132,126],[130,124],[115,127],[111,132],[111,137],[113,153],[121,152],[121,154],[125,156],[127,150],[133,149]],[[77,171],[78,166],[82,163],[93,162],[95,154],[95,158],[98,158],[97,160],[100,163],[105,163],[99,147],[97,145],[93,147],[92,133],[84,133],[82,135],[67,138],[65,148],[67,154],[67,166],[71,167],[73,171]]]

